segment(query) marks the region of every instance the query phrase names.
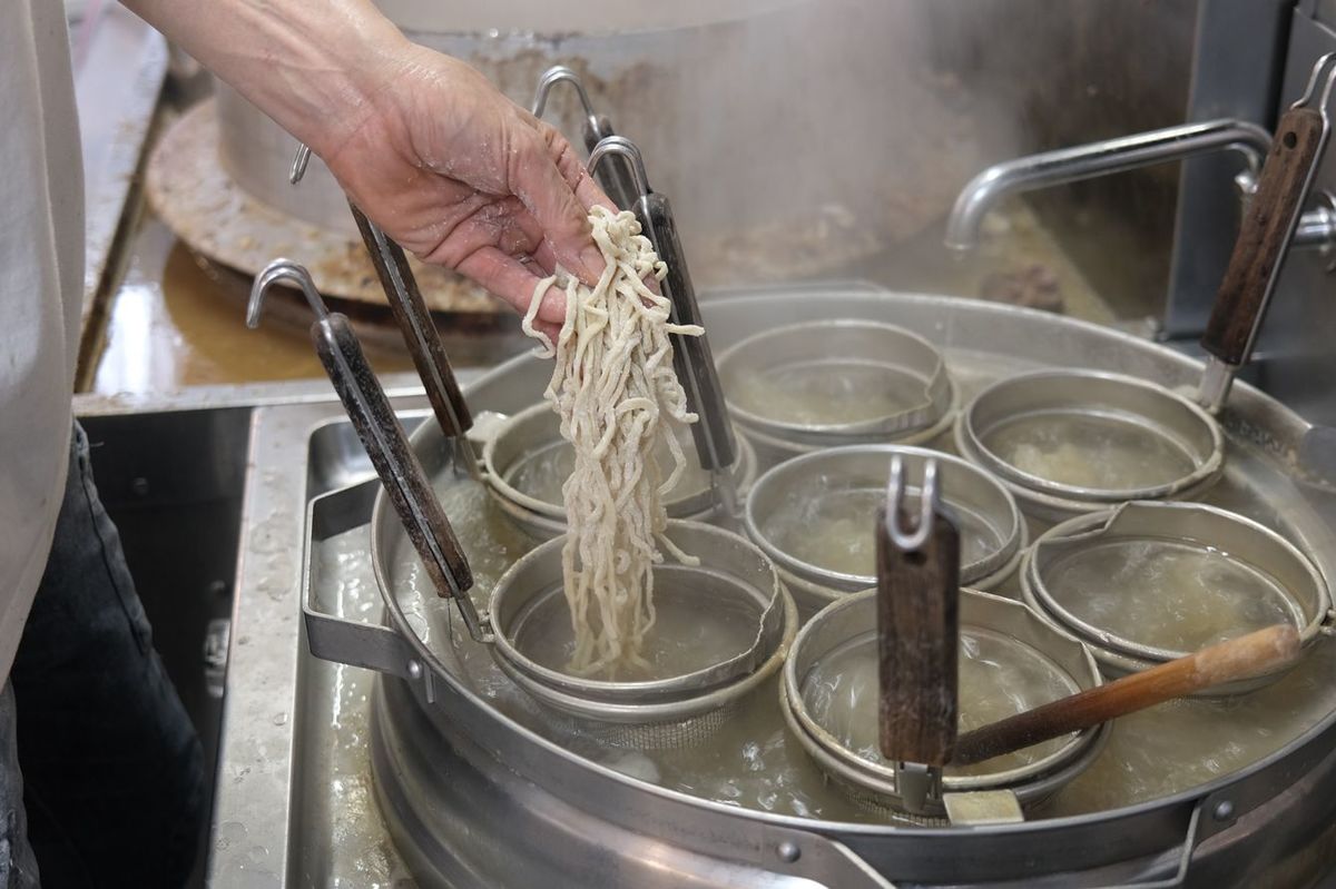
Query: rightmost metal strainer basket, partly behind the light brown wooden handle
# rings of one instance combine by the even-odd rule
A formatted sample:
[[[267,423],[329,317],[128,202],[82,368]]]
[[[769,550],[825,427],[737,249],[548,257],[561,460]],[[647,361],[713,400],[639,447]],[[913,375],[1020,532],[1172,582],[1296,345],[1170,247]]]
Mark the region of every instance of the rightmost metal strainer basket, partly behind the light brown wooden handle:
[[[1132,502],[1042,534],[1021,573],[1026,602],[1085,641],[1110,678],[1291,623],[1312,645],[1329,623],[1321,573],[1268,527],[1202,503]],[[1279,669],[1197,693],[1226,697]]]

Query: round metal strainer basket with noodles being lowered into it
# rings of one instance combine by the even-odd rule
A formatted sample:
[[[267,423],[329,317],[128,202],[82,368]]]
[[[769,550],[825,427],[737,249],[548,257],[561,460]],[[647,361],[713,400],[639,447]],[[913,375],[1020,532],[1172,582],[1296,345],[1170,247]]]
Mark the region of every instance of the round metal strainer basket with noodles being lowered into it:
[[[530,697],[609,742],[664,749],[705,739],[732,706],[771,677],[798,630],[792,598],[751,542],[697,522],[669,522],[669,539],[700,565],[655,567],[653,638],[661,674],[625,681],[565,669],[572,639],[561,586],[565,538],[516,562],[492,593],[492,655]]]

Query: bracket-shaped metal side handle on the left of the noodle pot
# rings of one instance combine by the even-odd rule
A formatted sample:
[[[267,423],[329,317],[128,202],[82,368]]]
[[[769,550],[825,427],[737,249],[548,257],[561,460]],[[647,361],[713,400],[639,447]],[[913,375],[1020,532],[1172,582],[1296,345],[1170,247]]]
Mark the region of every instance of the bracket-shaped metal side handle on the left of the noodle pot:
[[[381,489],[377,479],[322,494],[306,509],[306,535],[302,547],[302,617],[306,645],[322,661],[366,667],[399,678],[410,678],[413,651],[406,639],[377,623],[350,621],[331,614],[321,602],[315,546],[329,538],[366,525]]]

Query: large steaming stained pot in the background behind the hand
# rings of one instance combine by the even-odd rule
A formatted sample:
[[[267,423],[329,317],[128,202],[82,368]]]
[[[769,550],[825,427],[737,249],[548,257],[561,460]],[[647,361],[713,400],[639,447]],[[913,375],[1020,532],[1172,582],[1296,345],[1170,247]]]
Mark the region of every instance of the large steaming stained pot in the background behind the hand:
[[[526,108],[548,67],[573,67],[672,196],[700,282],[808,274],[879,251],[942,218],[983,160],[978,119],[930,71],[921,4],[381,5],[415,43],[469,61]],[[573,92],[558,88],[548,107],[578,140]],[[301,188],[287,184],[291,136],[222,85],[218,121],[220,162],[244,192],[359,243],[322,164]]]

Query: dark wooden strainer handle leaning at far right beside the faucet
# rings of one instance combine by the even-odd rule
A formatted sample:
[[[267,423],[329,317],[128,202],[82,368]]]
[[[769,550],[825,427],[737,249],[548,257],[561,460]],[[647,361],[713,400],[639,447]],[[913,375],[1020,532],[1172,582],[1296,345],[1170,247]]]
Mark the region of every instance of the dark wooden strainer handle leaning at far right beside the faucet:
[[[1201,338],[1202,347],[1226,364],[1248,362],[1321,144],[1319,111],[1292,108],[1281,116]]]

